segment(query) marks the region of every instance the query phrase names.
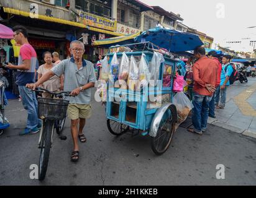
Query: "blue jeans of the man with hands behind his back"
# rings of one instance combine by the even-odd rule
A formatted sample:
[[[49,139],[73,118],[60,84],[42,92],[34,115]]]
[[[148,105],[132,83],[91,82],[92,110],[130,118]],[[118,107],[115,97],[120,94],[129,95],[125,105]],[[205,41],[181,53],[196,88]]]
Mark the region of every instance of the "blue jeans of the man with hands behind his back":
[[[202,132],[202,130],[204,131],[207,129],[209,103],[211,99],[212,97],[194,93],[192,123],[194,131],[196,132]]]

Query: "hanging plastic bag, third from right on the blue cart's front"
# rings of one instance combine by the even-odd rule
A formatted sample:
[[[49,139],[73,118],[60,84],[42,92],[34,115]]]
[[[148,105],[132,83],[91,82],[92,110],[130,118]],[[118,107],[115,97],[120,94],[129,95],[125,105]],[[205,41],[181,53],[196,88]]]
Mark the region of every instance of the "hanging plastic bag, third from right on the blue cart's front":
[[[130,58],[130,68],[129,68],[129,75],[128,75],[128,87],[130,90],[134,91],[135,87],[139,82],[139,68],[137,66],[137,62],[134,59],[134,56]]]

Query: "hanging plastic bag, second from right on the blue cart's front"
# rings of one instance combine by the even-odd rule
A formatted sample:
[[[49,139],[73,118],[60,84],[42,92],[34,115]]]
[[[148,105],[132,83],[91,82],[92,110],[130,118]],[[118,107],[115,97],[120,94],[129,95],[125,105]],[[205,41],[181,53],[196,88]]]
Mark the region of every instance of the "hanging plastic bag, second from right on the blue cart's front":
[[[149,80],[150,80],[149,64],[147,62],[146,55],[144,53],[142,53],[142,56],[140,59],[138,75],[140,80],[139,83],[140,85],[142,85],[142,87],[145,87],[146,85],[149,84]]]

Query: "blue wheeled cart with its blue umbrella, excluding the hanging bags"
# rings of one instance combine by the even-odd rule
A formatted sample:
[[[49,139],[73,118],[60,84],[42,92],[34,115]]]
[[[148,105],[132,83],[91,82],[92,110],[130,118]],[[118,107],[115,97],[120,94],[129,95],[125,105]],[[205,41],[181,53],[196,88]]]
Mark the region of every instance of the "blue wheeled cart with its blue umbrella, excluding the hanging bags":
[[[109,63],[113,56],[121,59],[124,51],[118,50],[122,47],[132,49],[125,52],[129,58],[134,56],[140,61],[142,54],[145,54],[144,57],[149,64],[156,53],[156,49],[159,53],[160,49],[164,48],[167,49],[168,53],[163,53],[164,61],[158,66],[157,86],[150,87],[147,85],[138,92],[129,87],[120,88],[107,83],[107,127],[111,134],[116,136],[128,131],[141,133],[142,136],[149,135],[153,152],[162,155],[170,146],[176,130],[176,123],[178,123],[177,109],[173,104],[175,95],[173,80],[176,74],[177,61],[174,56],[171,56],[171,53],[193,50],[203,43],[197,35],[161,27],[145,31],[139,37],[134,38],[134,41],[137,43],[111,46],[107,54]],[[168,83],[164,82],[166,79],[169,79]],[[150,100],[150,98],[159,96],[162,98],[160,103]]]

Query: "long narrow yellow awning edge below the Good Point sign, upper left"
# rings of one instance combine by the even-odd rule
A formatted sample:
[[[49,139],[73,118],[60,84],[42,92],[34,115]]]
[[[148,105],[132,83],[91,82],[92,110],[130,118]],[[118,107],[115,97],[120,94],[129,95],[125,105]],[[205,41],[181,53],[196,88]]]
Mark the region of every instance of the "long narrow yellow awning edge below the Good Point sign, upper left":
[[[11,9],[9,7],[4,7],[4,12],[9,13],[9,14],[22,15],[24,17],[30,17],[30,12],[19,11],[19,10],[16,10],[16,9]],[[100,28],[95,28],[95,27],[90,27],[88,25],[80,24],[78,22],[72,22],[72,21],[69,21],[69,20],[58,19],[58,18],[55,18],[55,17],[48,17],[48,16],[40,15],[40,14],[38,15],[37,19],[47,20],[49,22],[55,22],[55,23],[58,23],[58,24],[71,25],[71,26],[80,27],[80,28],[87,28],[88,30],[91,30],[91,31],[106,33],[106,34],[114,35],[114,36],[117,36],[117,37],[123,35],[122,33],[111,32],[111,31],[108,31],[108,30],[103,30],[103,29],[100,29]]]

